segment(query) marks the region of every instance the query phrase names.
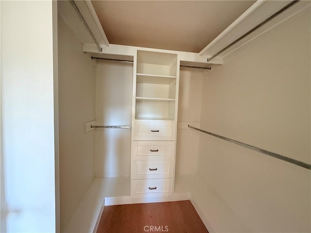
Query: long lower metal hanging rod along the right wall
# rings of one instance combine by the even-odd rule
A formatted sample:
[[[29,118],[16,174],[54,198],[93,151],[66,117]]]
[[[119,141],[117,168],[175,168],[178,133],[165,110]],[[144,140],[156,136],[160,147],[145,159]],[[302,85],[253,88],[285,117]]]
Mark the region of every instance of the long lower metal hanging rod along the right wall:
[[[288,163],[291,163],[291,164],[294,164],[294,165],[297,165],[297,166],[301,166],[301,167],[304,167],[304,168],[307,168],[307,169],[311,170],[311,164],[307,164],[307,163],[301,162],[301,161],[299,161],[299,160],[295,160],[295,159],[286,157],[286,156],[284,156],[284,155],[276,154],[276,153],[271,152],[271,151],[268,151],[268,150],[263,150],[263,149],[261,149],[261,148],[254,147],[254,146],[251,146],[251,145],[248,145],[248,144],[245,144],[245,143],[242,143],[242,142],[239,142],[239,141],[236,141],[236,140],[233,140],[233,139],[230,139],[230,138],[227,138],[227,137],[224,137],[224,136],[215,134],[215,133],[210,133],[210,132],[207,132],[207,131],[205,131],[205,130],[201,130],[201,129],[199,129],[199,128],[195,128],[195,127],[193,127],[193,126],[191,126],[191,125],[188,125],[188,127],[191,128],[191,129],[200,131],[200,132],[202,132],[202,133],[207,133],[207,134],[212,135],[212,136],[214,136],[214,137],[221,138],[221,139],[226,140],[226,141],[228,141],[228,142],[232,142],[232,143],[237,144],[237,145],[239,145],[239,146],[246,147],[246,148],[248,148],[248,149],[255,150],[255,151],[257,151],[257,152],[260,152],[260,153],[263,153],[263,154],[272,156],[272,157],[274,157],[274,158],[277,158],[277,159],[286,161],[286,162],[288,162]]]

